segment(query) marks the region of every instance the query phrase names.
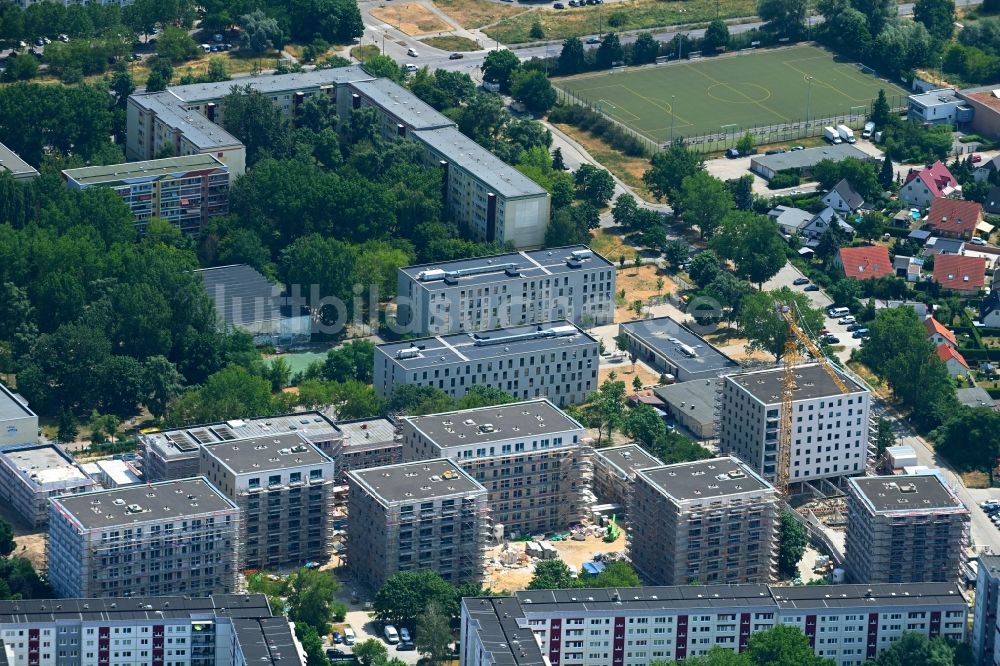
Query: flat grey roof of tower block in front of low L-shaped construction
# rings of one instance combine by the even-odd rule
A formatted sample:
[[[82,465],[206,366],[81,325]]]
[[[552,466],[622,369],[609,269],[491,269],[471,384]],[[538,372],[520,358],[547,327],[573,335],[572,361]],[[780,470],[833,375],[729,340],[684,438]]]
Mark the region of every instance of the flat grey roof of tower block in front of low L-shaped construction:
[[[235,474],[273,472],[291,467],[329,463],[325,453],[299,433],[206,444],[205,452]]]

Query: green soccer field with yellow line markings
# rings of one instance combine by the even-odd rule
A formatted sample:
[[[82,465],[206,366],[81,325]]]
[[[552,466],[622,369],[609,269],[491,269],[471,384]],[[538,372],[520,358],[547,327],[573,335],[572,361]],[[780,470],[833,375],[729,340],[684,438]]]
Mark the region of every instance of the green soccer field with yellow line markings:
[[[670,140],[671,123],[674,137],[736,134],[801,123],[807,103],[816,121],[865,113],[879,88],[892,106],[907,94],[815,46],[584,74],[555,84],[659,143]]]

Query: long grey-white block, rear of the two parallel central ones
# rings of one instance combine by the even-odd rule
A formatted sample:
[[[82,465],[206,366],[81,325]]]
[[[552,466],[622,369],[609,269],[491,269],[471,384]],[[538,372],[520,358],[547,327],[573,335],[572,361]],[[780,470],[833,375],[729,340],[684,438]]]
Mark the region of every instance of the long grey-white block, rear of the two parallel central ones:
[[[615,267],[586,245],[399,269],[396,320],[417,335],[614,321]]]

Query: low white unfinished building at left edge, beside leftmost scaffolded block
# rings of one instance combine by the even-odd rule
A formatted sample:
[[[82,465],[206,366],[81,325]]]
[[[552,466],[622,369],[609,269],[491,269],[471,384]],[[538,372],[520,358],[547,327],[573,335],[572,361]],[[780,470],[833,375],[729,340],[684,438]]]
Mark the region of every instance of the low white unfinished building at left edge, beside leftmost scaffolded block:
[[[49,521],[49,499],[92,490],[96,482],[54,444],[0,453],[0,499],[33,528]]]

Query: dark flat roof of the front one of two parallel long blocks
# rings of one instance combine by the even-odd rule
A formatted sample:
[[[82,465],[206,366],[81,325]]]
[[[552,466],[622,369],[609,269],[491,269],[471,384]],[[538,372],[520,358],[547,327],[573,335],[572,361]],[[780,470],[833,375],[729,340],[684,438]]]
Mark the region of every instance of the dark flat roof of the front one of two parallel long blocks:
[[[403,368],[417,370],[447,363],[482,361],[532,352],[556,352],[596,344],[597,341],[588,333],[564,320],[497,328],[480,333],[453,333],[389,342],[378,345],[377,349]],[[404,349],[415,349],[418,353],[415,356],[397,358],[396,353]]]

